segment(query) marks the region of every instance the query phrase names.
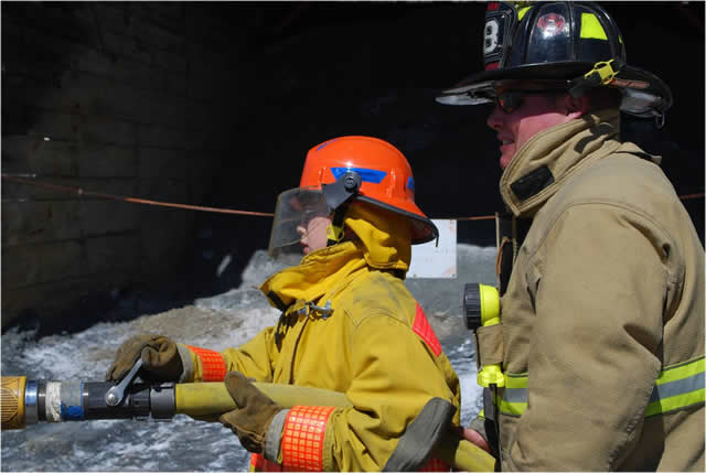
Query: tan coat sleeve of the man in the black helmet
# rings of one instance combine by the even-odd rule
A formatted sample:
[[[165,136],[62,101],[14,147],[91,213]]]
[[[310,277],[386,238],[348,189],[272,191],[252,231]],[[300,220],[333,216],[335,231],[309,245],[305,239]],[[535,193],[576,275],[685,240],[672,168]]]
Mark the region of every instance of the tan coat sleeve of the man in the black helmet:
[[[632,451],[661,368],[664,233],[619,206],[574,206],[527,266],[536,321],[527,408],[503,470],[613,471]]]

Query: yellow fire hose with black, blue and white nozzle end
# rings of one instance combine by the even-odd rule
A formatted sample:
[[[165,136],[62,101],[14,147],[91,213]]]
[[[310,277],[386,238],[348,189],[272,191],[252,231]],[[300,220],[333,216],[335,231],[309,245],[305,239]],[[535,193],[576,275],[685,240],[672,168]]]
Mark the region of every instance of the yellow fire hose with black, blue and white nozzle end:
[[[343,393],[269,383],[254,385],[285,408],[351,407]],[[169,420],[179,413],[208,417],[237,408],[223,383],[154,384],[137,378],[121,386],[104,381],[28,380],[25,376],[2,376],[0,406],[3,430],[23,429],[38,422],[150,417]],[[434,455],[461,471],[494,471],[493,456],[452,432],[439,440]]]

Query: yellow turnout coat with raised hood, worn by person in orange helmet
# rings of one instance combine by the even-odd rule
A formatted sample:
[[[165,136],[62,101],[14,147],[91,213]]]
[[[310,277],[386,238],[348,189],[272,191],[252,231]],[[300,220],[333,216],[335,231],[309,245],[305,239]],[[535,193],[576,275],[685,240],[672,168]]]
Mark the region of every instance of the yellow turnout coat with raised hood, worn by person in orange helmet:
[[[452,405],[459,424],[460,387],[399,277],[411,252],[407,222],[356,204],[345,225],[352,240],[307,255],[260,288],[286,308],[278,326],[222,355],[227,370],[258,381],[345,393],[353,407],[330,416],[322,467],[381,471],[430,399]],[[201,380],[199,357],[192,363]]]

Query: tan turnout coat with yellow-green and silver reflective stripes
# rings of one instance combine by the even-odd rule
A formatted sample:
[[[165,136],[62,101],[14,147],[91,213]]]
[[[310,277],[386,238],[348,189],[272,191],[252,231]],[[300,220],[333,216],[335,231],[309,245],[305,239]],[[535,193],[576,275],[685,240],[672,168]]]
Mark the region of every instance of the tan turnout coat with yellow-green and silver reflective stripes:
[[[704,471],[704,248],[618,132],[617,110],[553,127],[503,173],[533,219],[501,301],[503,470]],[[520,198],[542,166],[553,182]]]

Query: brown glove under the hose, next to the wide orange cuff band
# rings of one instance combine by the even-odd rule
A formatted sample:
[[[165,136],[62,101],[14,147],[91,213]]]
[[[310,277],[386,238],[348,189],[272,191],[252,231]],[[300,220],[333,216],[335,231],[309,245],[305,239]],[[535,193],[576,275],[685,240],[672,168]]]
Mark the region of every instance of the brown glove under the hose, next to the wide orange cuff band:
[[[247,451],[263,453],[267,429],[277,412],[284,409],[257,389],[242,373],[228,373],[224,383],[239,409],[222,415],[218,420],[238,436],[240,444]]]

